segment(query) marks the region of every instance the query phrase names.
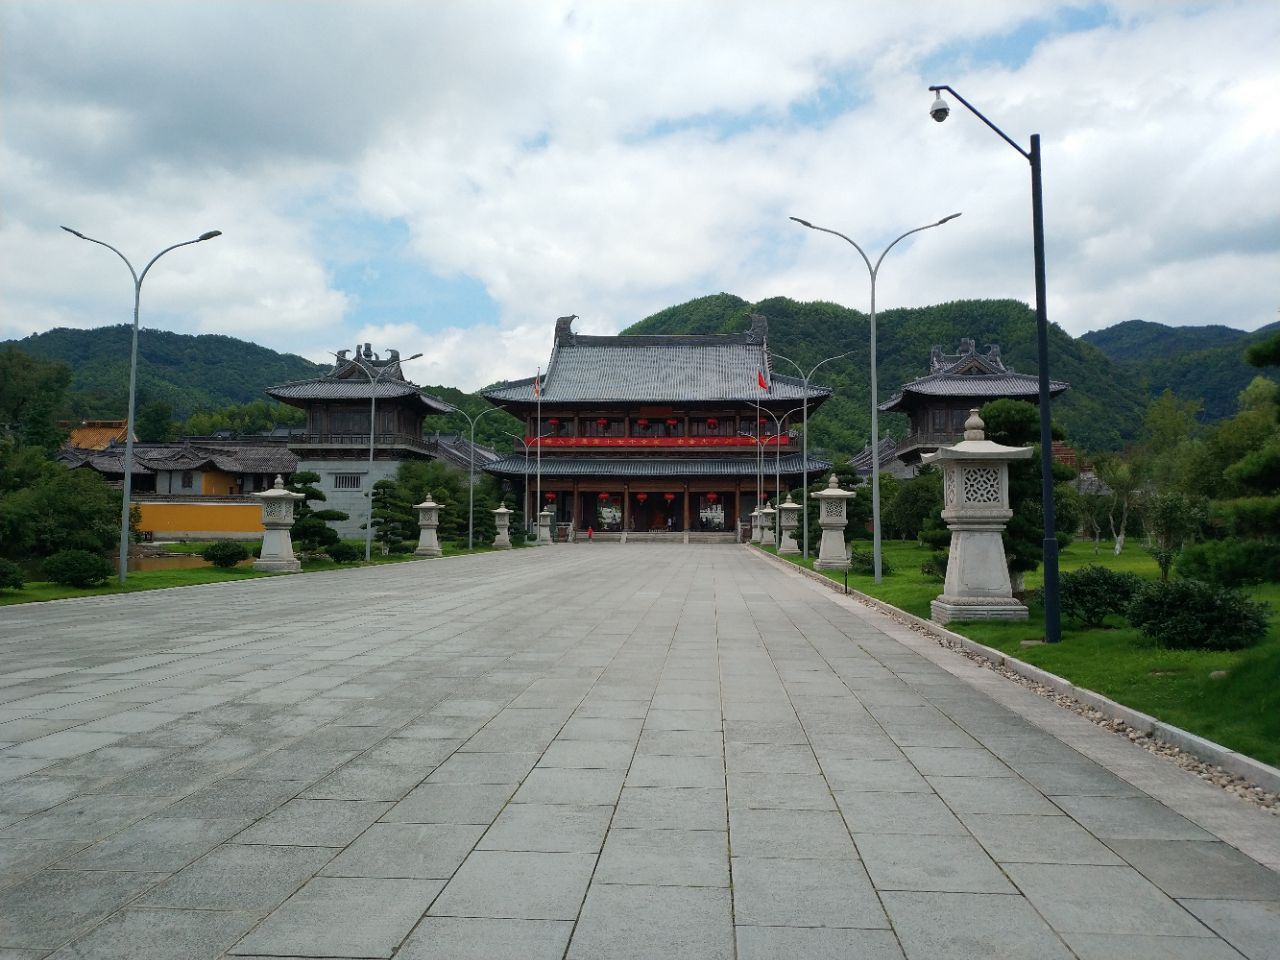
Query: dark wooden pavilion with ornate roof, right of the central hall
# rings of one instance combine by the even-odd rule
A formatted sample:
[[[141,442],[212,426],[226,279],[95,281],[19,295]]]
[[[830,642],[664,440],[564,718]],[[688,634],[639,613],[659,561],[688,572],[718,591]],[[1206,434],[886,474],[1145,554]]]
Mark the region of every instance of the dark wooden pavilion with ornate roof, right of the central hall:
[[[1050,397],[1069,387],[1061,380],[1050,380]],[[986,353],[979,353],[969,338],[960,340],[960,349],[955,353],[943,353],[942,347],[934,347],[929,356],[929,372],[902,384],[893,397],[879,404],[884,412],[906,413],[911,419],[911,433],[888,451],[893,472],[914,476],[923,454],[960,442],[970,410],[1006,398],[1039,403],[1039,379],[1005,366],[1000,344],[988,344]],[[869,451],[861,456],[870,462]],[[882,465],[884,462],[881,461]]]

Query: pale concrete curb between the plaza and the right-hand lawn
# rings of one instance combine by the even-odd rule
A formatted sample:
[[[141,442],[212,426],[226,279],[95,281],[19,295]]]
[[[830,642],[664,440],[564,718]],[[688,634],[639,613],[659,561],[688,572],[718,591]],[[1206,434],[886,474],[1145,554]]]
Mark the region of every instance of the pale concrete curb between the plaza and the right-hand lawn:
[[[782,563],[791,570],[801,573],[803,576],[815,580],[823,584],[828,589],[840,591],[844,594],[844,589],[831,577],[826,577],[822,573],[815,573],[812,570],[806,570],[799,564],[791,563],[781,557],[776,557],[765,550],[755,549],[755,553],[767,557],[776,563]],[[1134,710],[1133,708],[1125,707],[1124,704],[1116,703],[1108,696],[1094,692],[1087,687],[1076,686],[1069,680],[1065,680],[1056,673],[1050,673],[1047,669],[1041,669],[1039,667],[1033,667],[1029,663],[1019,660],[1014,657],[1009,657],[1000,650],[979,644],[975,640],[970,640],[966,636],[952,632],[946,627],[934,623],[931,620],[923,620],[913,613],[901,611],[883,600],[877,600],[874,596],[861,593],[860,590],[854,590],[850,588],[849,596],[856,596],[861,603],[886,613],[888,616],[900,617],[901,620],[911,623],[918,630],[929,634],[936,637],[942,637],[948,640],[965,650],[982,657],[983,659],[991,660],[998,667],[1004,667],[1012,671],[1020,677],[1030,680],[1036,684],[1043,684],[1050,690],[1064,696],[1070,696],[1079,700],[1087,707],[1092,707],[1098,713],[1111,719],[1123,721],[1134,730],[1147,733],[1148,736],[1162,740],[1166,744],[1176,746],[1179,750],[1185,750],[1193,756],[1198,756],[1206,763],[1212,763],[1221,767],[1228,773],[1233,773],[1236,777],[1247,780],[1249,783],[1268,790],[1271,792],[1280,792],[1280,769],[1271,767],[1261,760],[1254,760],[1252,756],[1245,756],[1244,754],[1230,750],[1221,744],[1215,744],[1212,740],[1206,740],[1204,737],[1190,733],[1181,727],[1175,727],[1171,723],[1165,723],[1161,719],[1156,719],[1149,714]]]

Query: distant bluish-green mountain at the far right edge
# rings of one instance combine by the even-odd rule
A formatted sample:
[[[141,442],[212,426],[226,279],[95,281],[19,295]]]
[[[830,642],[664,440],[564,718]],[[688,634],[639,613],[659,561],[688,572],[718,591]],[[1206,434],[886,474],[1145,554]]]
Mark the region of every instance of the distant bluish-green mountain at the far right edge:
[[[1249,346],[1280,330],[1280,324],[1245,333],[1229,326],[1166,326],[1126,320],[1080,339],[1106,353],[1149,397],[1166,389],[1203,403],[1201,419],[1212,422],[1236,411],[1240,390],[1261,371],[1244,358]]]

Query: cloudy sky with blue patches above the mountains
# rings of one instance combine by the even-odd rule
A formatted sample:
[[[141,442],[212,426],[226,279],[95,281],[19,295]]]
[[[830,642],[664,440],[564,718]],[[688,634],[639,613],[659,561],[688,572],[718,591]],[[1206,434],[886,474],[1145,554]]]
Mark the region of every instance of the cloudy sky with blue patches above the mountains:
[[[1280,307],[1280,4],[0,0],[0,339],[128,321],[421,383],[727,291],[1247,330]]]

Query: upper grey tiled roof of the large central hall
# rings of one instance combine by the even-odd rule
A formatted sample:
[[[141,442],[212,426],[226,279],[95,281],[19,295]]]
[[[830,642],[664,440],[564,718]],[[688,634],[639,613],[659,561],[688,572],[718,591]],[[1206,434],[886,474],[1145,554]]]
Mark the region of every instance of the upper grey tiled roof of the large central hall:
[[[696,403],[800,401],[804,384],[772,375],[768,324],[754,317],[746,333],[708,337],[590,337],[573,333],[575,317],[556,325],[556,344],[541,380],[543,403]],[[768,390],[758,385],[763,372]],[[809,399],[831,396],[809,387]],[[535,403],[534,378],[485,390],[494,403]]]

